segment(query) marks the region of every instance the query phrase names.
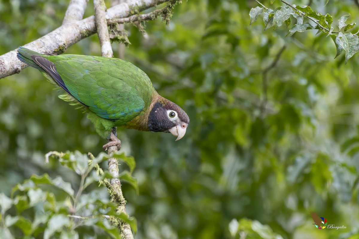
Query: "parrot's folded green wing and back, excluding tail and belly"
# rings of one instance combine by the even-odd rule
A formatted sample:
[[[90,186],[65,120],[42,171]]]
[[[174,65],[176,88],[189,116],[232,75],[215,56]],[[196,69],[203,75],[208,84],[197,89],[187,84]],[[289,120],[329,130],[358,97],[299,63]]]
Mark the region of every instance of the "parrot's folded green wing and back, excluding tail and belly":
[[[155,91],[148,76],[117,58],[81,55],[44,56],[55,67],[70,94],[116,126],[145,111]]]

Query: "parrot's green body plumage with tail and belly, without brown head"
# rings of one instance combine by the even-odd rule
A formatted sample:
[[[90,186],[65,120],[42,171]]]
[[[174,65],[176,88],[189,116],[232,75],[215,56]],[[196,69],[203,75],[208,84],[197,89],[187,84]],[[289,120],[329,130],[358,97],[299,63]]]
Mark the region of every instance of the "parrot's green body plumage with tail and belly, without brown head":
[[[41,58],[35,62],[33,55],[53,62],[56,71]],[[147,129],[143,125],[146,110],[157,92],[148,76],[133,64],[117,58],[48,56],[24,47],[19,47],[17,56],[67,91],[60,99],[87,112],[102,137],[107,138],[114,126]],[[53,78],[57,74],[61,78]]]

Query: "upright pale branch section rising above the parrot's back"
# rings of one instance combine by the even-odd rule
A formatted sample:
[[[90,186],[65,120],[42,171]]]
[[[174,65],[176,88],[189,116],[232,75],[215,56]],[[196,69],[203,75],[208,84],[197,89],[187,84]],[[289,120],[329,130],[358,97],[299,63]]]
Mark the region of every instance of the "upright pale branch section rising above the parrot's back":
[[[107,28],[105,3],[103,0],[94,0],[93,5],[95,8],[95,22],[96,22],[97,35],[101,44],[101,56],[112,57],[113,52],[112,52],[111,42]]]

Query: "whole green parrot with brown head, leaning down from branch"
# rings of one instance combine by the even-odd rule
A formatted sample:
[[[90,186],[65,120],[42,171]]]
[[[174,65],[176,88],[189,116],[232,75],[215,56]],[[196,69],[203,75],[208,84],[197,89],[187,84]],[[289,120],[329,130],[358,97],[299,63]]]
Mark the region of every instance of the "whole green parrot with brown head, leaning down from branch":
[[[117,58],[64,54],[45,55],[19,47],[20,61],[41,71],[65,90],[60,99],[78,105],[95,125],[96,132],[111,139],[103,145],[121,144],[115,126],[172,133],[181,139],[190,119],[178,105],[160,96],[140,68]]]

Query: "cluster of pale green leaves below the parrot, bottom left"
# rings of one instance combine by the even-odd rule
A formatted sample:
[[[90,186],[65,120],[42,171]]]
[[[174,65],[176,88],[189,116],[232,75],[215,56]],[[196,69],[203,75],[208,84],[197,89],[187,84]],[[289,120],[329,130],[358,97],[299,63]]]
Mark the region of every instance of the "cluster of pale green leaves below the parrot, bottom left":
[[[120,202],[104,197],[103,187],[93,188],[94,184],[104,185],[113,193],[108,181],[111,175],[99,167],[99,163],[108,159],[107,154],[93,157],[91,153],[78,151],[50,152],[47,157],[59,160],[62,166],[81,177],[77,192],[62,177],[51,178],[45,173],[31,175],[13,187],[11,197],[1,193],[1,238],[93,238],[94,234],[97,238],[121,238],[118,229],[113,227],[112,222],[116,220],[129,223],[136,231],[136,220],[118,213]],[[137,181],[131,176],[134,158],[122,153],[111,157],[129,166],[130,171],[123,171],[119,178],[138,190]]]

